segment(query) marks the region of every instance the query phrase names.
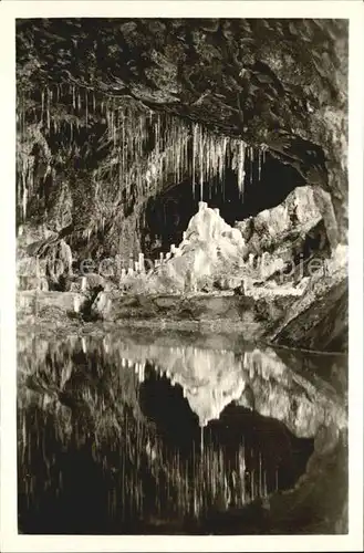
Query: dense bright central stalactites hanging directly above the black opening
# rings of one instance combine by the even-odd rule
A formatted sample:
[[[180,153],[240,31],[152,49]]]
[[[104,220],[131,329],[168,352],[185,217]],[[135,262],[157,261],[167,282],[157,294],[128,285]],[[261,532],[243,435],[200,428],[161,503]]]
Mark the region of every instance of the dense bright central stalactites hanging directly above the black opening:
[[[250,182],[253,181],[254,158],[260,179],[263,147],[253,148],[241,139],[212,133],[198,123],[190,124],[158,112],[134,115],[129,109],[118,108],[106,112],[106,119],[107,136],[115,152],[112,163],[98,168],[96,175],[108,171],[111,181],[118,178],[118,189],[125,189],[127,198],[132,188],[138,198],[146,198],[173,184],[189,180],[194,196],[206,199],[205,195],[211,197],[212,187],[220,186],[225,191],[229,168],[237,174],[243,200],[247,173]]]

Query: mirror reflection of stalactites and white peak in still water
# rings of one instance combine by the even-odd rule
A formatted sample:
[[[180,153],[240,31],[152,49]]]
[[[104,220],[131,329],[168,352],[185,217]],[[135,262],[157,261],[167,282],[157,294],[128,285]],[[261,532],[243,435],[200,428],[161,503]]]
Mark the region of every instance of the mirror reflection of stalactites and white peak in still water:
[[[313,415],[310,385],[269,348],[18,344],[25,533],[205,532],[211,514],[294,484],[333,400],[316,393]]]

